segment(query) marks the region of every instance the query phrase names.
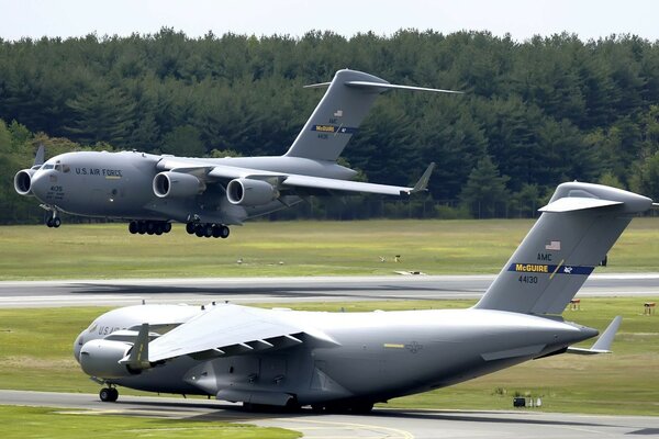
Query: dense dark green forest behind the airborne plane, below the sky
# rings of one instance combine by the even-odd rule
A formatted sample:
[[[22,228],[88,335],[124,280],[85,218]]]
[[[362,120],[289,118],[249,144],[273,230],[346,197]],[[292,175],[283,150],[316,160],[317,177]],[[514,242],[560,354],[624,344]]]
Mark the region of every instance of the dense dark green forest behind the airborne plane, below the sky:
[[[40,143],[48,156],[82,148],[280,155],[323,93],[302,86],[346,67],[465,94],[381,97],[345,160],[364,179],[391,184],[413,182],[435,161],[429,192],[404,205],[348,202],[340,217],[533,215],[567,180],[659,199],[655,42],[570,34],[516,42],[414,30],[189,38],[163,29],[0,40],[0,222],[41,218],[35,201],[20,200],[12,185]],[[362,212],[345,216],[353,207]],[[279,217],[332,209],[302,206]]]

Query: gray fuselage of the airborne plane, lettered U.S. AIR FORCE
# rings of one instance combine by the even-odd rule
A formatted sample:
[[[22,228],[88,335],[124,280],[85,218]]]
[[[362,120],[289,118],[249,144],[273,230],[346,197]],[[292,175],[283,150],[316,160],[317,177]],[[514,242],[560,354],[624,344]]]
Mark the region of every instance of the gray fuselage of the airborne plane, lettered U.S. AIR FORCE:
[[[168,158],[170,156],[136,151],[67,153],[53,157],[36,170],[30,189],[42,203],[54,205],[63,212],[119,219],[188,222],[190,215],[197,214],[222,224],[237,224],[287,206],[279,201],[259,206],[237,206],[231,204],[223,192],[204,192],[189,198],[158,198],[153,190],[153,180],[161,172],[157,168],[160,160]],[[342,180],[355,176],[355,171],[339,165],[299,157],[235,157],[199,161]],[[298,201],[297,196],[290,196],[287,204]]]

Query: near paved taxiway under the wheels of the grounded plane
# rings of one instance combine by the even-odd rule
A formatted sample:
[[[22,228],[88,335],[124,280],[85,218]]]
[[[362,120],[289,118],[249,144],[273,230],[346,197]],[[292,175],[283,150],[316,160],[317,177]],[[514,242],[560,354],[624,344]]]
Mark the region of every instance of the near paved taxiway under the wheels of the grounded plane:
[[[659,435],[659,417],[522,412],[405,410],[376,408],[371,415],[246,413],[231,403],[170,397],[0,391],[0,404],[62,407],[63,413],[188,418],[248,423],[301,431],[305,438],[623,438]]]

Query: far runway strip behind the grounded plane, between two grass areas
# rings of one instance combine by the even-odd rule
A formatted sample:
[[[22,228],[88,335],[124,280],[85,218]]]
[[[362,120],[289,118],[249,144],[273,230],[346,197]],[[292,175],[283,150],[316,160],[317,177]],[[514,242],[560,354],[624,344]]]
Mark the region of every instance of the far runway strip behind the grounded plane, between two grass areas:
[[[208,278],[0,282],[0,307],[479,299],[494,275]],[[659,273],[593,274],[578,293],[659,296]]]

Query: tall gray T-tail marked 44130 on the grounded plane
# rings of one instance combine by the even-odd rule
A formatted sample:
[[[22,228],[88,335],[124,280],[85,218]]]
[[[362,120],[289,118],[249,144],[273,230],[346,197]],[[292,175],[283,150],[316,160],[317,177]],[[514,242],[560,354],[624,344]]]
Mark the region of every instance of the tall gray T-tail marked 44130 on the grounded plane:
[[[561,314],[632,218],[652,206],[600,184],[560,184],[476,308]]]

